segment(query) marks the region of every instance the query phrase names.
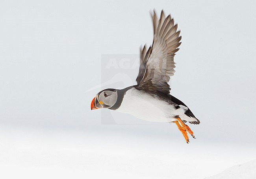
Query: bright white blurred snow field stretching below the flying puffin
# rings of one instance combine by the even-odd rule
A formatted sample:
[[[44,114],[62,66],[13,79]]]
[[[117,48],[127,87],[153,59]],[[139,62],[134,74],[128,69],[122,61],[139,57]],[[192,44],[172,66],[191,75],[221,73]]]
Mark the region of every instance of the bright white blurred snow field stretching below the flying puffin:
[[[200,139],[191,139],[187,145],[180,139],[181,136],[176,141],[167,141],[91,129],[2,125],[1,176],[5,179],[204,179],[256,158],[253,147],[210,141],[202,144]]]

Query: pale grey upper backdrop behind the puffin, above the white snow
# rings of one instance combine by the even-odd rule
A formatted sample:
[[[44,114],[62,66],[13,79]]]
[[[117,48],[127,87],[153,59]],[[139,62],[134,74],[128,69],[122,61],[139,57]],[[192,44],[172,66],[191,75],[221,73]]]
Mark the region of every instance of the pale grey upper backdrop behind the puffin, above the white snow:
[[[255,145],[254,7],[254,1],[1,1],[0,123],[176,134],[163,124],[102,125],[101,112],[90,109],[102,89],[87,90],[108,76],[102,54],[139,57],[140,45],[152,43],[148,12],[155,8],[171,13],[181,29],[171,93],[202,122],[191,128],[202,141]],[[137,72],[128,73],[133,84]],[[132,85],[119,81],[107,87]]]

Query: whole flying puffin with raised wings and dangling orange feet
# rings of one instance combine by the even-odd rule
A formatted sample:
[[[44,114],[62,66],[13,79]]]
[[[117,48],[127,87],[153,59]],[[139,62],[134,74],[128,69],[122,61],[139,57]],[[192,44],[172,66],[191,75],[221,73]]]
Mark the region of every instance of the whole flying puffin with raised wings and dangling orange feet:
[[[91,110],[107,108],[132,114],[151,122],[175,123],[189,143],[187,132],[193,131],[185,123],[199,124],[191,110],[182,101],[170,94],[168,82],[174,75],[174,55],[181,42],[178,25],[171,15],[165,18],[163,10],[160,19],[153,11],[154,40],[152,47],[141,48],[137,85],[125,89],[104,89],[91,101]]]

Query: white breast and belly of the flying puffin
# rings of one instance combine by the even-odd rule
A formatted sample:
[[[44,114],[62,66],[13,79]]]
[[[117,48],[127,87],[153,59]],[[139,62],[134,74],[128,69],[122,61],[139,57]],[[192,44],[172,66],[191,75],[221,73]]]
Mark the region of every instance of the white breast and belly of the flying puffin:
[[[166,101],[135,88],[126,92],[121,106],[116,111],[132,114],[139,119],[151,122],[171,122],[176,120],[174,116],[184,114],[184,109],[176,110]]]

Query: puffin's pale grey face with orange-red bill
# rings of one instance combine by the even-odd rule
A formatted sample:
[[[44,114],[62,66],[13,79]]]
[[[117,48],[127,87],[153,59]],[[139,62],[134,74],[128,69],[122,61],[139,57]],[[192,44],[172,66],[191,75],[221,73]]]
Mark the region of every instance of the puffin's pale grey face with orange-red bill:
[[[104,89],[91,101],[91,110],[111,108],[117,102],[117,89]]]

